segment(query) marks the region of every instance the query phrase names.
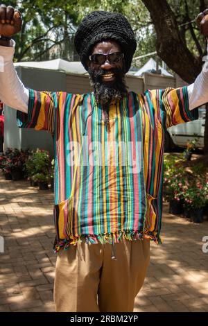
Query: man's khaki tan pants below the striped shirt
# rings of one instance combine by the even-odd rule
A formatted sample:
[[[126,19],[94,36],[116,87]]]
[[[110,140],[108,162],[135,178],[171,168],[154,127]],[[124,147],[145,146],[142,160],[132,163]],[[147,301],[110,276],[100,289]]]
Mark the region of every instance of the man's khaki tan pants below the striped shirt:
[[[61,250],[55,268],[56,311],[133,311],[150,259],[150,241],[79,243]]]

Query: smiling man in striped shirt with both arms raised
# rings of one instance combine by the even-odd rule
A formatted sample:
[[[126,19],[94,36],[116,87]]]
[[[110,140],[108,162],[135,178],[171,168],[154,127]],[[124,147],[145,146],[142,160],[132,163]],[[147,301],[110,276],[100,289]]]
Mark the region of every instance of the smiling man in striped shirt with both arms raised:
[[[208,35],[206,15],[198,22]],[[160,242],[165,130],[198,118],[207,71],[189,87],[128,92],[132,28],[121,14],[95,11],[75,35],[94,92],[37,92],[12,64],[20,29],[20,13],[1,5],[0,98],[17,109],[20,128],[53,136],[56,311],[133,311],[150,240]]]

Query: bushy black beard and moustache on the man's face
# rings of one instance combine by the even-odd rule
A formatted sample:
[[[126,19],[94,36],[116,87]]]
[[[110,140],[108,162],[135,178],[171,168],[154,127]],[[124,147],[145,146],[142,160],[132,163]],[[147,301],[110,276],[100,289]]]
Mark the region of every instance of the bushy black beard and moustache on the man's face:
[[[94,87],[94,95],[97,103],[101,103],[104,111],[108,111],[110,102],[112,100],[121,100],[128,94],[128,87],[125,85],[124,73],[122,69],[110,69],[110,73],[114,74],[116,80],[114,83],[104,83],[102,75],[107,71],[103,69],[88,69],[91,85]]]

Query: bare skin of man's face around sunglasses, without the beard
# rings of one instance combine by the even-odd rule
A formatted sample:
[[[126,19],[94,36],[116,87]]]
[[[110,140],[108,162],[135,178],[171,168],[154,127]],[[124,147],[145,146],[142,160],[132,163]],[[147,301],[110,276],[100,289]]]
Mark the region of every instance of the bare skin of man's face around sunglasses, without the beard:
[[[103,41],[99,42],[92,49],[92,55],[96,53],[100,54],[110,54],[115,52],[122,52],[121,46],[114,41]],[[103,83],[113,84],[116,80],[116,76],[114,74],[114,69],[120,69],[123,71],[123,59],[119,60],[119,62],[110,63],[108,60],[105,60],[103,65],[96,65],[94,62],[89,62],[90,67],[94,70],[103,69],[102,80]],[[112,77],[111,77],[112,76]],[[111,77],[111,78],[110,78]]]

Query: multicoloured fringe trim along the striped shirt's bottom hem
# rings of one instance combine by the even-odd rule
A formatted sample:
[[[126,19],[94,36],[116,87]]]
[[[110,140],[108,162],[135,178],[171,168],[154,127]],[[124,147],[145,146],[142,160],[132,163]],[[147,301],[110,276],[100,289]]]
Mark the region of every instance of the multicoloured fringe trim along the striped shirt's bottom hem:
[[[122,239],[127,239],[129,241],[150,239],[157,244],[162,243],[161,237],[159,234],[155,235],[153,232],[114,232],[112,234],[89,234],[87,236],[82,235],[81,237],[71,237],[71,239],[57,240],[55,239],[53,250],[54,252],[59,252],[61,249],[67,250],[70,246],[76,246],[78,243],[119,243]]]

